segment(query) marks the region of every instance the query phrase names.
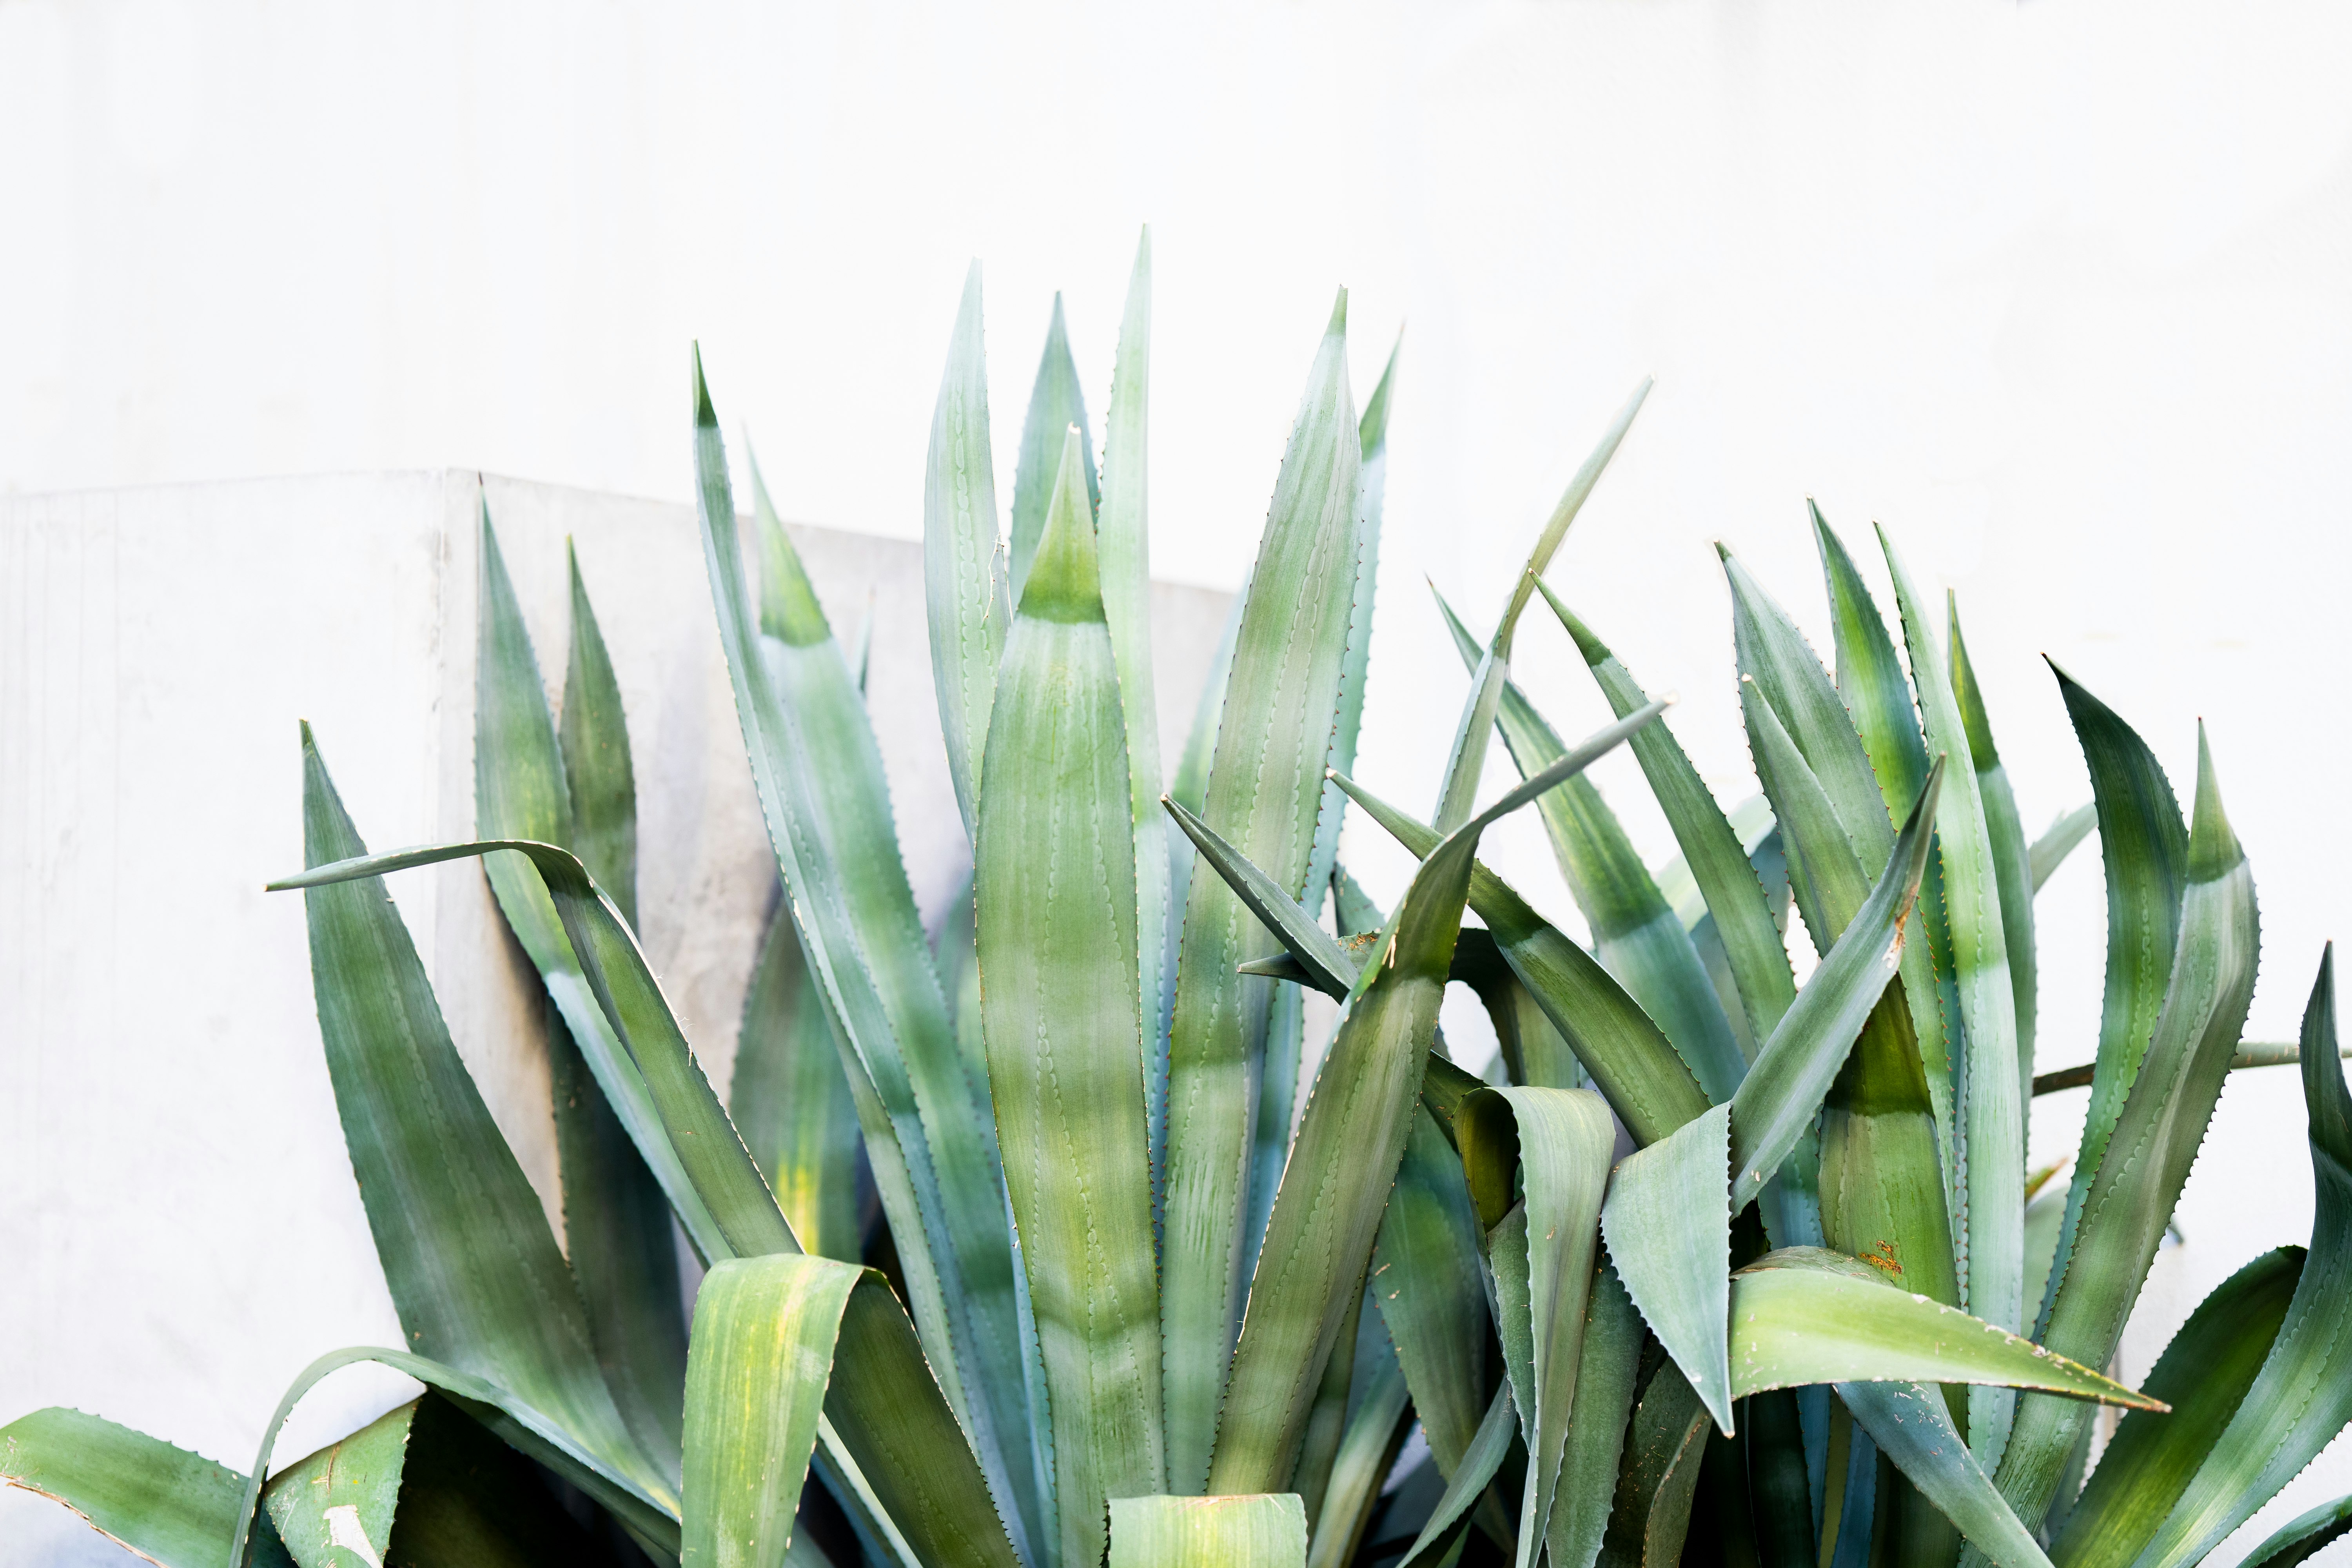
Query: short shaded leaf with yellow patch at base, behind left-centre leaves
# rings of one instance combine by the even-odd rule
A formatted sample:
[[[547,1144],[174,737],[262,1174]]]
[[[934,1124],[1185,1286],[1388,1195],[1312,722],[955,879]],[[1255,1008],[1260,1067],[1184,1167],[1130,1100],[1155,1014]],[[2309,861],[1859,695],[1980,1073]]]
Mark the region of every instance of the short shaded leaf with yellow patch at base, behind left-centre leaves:
[[[793,1234],[818,1258],[858,1262],[858,1110],[826,1001],[776,907],[743,992],[727,1112]]]

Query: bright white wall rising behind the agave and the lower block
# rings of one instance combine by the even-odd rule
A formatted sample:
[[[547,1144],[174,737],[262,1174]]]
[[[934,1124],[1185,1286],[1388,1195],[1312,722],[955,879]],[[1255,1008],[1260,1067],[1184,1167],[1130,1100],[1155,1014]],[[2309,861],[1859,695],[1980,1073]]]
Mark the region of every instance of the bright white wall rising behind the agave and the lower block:
[[[1247,571],[1331,289],[1359,395],[1411,322],[1376,790],[1425,799],[1451,733],[1423,574],[1484,625],[1653,374],[1552,581],[1682,691],[1724,799],[1708,541],[1820,632],[1802,498],[1858,555],[1886,522],[1959,590],[2030,827],[2086,797],[2037,654],[2183,792],[2209,719],[2279,1039],[2352,872],[2345,80],[2331,5],[0,0],[0,487],[482,465],[675,501],[701,339],[786,515],[913,536],[967,261],[1009,494],[1051,292],[1101,409],[1148,221],[1160,576]],[[1519,675],[1599,722],[1541,609]],[[1496,858],[1573,924],[1531,823]],[[2100,919],[2086,851],[2042,900],[2046,1067],[2089,1056]],[[2126,1373],[2307,1222],[2288,1074],[2232,1086]],[[2321,1469],[2281,1507],[2352,1486]]]

